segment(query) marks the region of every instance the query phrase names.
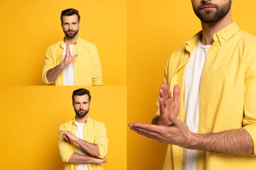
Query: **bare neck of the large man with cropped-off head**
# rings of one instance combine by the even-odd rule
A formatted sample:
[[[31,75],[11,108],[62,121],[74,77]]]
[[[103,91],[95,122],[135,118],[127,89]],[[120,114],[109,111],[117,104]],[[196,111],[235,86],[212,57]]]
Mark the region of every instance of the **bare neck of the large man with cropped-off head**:
[[[221,31],[223,28],[230,25],[231,23],[233,23],[232,17],[231,17],[231,9],[224,18],[222,18],[216,23],[201,22],[202,33],[203,33],[201,43],[203,45],[212,45],[212,43],[214,42],[213,35],[218,31]]]

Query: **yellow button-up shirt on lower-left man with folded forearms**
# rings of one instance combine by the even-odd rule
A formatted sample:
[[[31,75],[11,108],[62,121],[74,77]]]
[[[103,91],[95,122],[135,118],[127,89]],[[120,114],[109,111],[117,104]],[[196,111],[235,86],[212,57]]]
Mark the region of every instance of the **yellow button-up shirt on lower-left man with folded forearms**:
[[[59,129],[70,131],[76,136],[76,117],[64,124],[61,124]],[[87,118],[83,127],[84,140],[99,146],[99,158],[103,159],[108,151],[108,136],[107,130],[102,122]],[[62,161],[65,162],[64,170],[77,170],[78,164],[68,162],[71,155],[77,152],[76,143],[67,141],[63,134],[58,133],[58,149],[61,155]],[[89,170],[103,170],[101,164],[88,163]]]

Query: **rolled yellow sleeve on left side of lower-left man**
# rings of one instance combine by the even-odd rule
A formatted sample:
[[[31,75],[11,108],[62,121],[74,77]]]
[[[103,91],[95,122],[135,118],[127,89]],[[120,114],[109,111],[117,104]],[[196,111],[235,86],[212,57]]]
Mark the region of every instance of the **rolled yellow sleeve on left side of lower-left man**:
[[[64,125],[59,126],[60,130],[67,130],[65,129]],[[61,159],[64,162],[68,162],[74,151],[71,148],[70,141],[67,141],[63,134],[58,133],[58,149],[61,155]]]

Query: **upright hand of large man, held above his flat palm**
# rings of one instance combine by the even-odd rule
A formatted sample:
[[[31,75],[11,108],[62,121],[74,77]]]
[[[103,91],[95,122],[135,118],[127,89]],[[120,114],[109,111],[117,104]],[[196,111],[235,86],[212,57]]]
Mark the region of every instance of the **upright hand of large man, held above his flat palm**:
[[[169,121],[172,116],[177,118],[180,111],[180,87],[175,85],[173,88],[173,98],[172,92],[170,91],[168,85],[162,84],[159,90],[159,109],[160,117],[158,125],[171,125],[172,122]]]

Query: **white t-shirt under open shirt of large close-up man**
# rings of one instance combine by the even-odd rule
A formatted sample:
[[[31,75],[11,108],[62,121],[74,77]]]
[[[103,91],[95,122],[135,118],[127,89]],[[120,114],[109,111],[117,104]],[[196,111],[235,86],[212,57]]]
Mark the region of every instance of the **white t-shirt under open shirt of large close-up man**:
[[[193,133],[198,133],[200,82],[210,47],[211,45],[203,45],[198,41],[184,76],[184,122]],[[197,150],[184,149],[182,169],[196,170],[196,164]]]

